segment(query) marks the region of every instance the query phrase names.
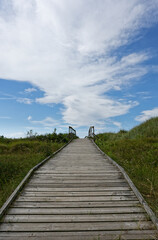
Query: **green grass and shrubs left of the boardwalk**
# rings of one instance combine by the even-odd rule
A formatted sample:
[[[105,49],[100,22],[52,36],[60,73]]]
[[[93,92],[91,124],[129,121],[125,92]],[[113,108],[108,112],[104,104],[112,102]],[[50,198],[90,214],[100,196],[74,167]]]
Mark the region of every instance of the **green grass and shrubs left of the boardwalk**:
[[[27,138],[0,137],[0,207],[28,171],[69,141],[67,134],[36,135]]]

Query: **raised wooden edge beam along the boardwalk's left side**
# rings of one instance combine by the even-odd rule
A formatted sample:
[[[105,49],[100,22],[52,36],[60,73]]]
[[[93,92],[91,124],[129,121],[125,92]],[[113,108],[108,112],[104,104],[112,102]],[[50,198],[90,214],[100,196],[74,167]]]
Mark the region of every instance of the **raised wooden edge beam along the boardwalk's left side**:
[[[34,173],[34,171],[36,169],[38,169],[40,166],[42,166],[45,162],[47,162],[50,158],[52,158],[53,156],[55,156],[58,152],[60,152],[63,148],[65,148],[70,142],[72,142],[73,139],[71,139],[68,143],[66,143],[64,146],[62,146],[61,148],[59,148],[56,152],[52,153],[51,155],[49,155],[48,157],[46,157],[44,160],[42,160],[40,163],[38,163],[37,165],[35,165],[33,168],[31,168],[29,170],[29,172],[27,173],[27,175],[23,178],[23,180],[20,182],[20,184],[16,187],[16,189],[14,190],[14,192],[10,195],[10,197],[6,200],[6,202],[3,204],[3,206],[0,209],[0,219],[4,216],[5,212],[7,211],[7,209],[9,208],[9,206],[12,204],[12,202],[15,200],[15,198],[17,197],[17,195],[19,194],[19,192],[22,190],[22,188],[24,187],[24,185],[27,183],[27,181],[29,180],[29,178],[32,176],[32,174]]]

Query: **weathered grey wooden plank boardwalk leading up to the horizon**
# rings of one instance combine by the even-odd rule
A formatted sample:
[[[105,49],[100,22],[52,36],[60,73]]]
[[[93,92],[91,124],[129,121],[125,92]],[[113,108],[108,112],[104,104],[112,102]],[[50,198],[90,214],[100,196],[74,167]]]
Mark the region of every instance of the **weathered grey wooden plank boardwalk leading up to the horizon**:
[[[2,221],[0,240],[156,239],[123,174],[89,139],[36,170]]]

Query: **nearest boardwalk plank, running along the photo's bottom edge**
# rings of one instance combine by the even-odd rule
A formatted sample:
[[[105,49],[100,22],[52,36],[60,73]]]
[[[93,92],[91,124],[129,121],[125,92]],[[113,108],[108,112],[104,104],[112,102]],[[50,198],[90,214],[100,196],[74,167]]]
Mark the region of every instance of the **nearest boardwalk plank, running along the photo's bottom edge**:
[[[17,240],[23,237],[28,239],[46,239],[46,240],[145,240],[156,239],[154,230],[115,230],[115,231],[77,231],[77,232],[0,232],[0,239]],[[95,238],[96,237],[96,238]]]

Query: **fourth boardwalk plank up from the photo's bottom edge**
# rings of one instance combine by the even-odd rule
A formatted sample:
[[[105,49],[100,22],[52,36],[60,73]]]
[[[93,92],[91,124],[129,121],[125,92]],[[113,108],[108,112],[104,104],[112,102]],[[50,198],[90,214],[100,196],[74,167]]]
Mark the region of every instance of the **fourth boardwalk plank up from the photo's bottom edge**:
[[[143,213],[141,207],[113,207],[113,208],[10,208],[8,214],[107,214],[107,213]]]

